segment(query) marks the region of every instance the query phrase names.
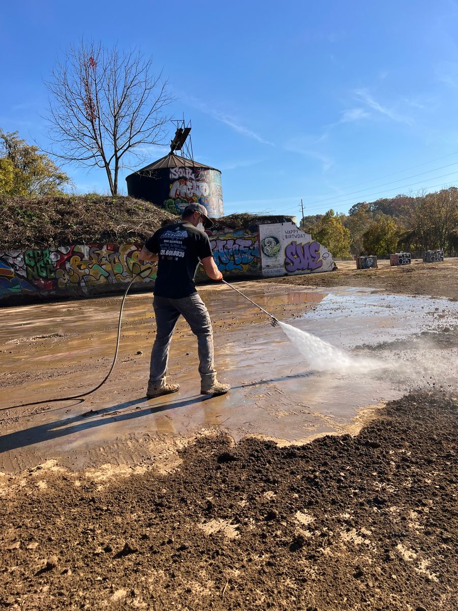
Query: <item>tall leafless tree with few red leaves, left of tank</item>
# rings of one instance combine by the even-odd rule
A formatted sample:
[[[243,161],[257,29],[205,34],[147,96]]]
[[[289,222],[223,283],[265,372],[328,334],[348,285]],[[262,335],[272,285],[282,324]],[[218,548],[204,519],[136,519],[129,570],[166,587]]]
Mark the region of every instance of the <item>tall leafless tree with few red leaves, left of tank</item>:
[[[112,195],[118,193],[122,158],[139,145],[165,141],[165,106],[173,101],[162,73],[140,51],[118,51],[101,43],[70,47],[46,82],[50,152],[65,161],[104,168]]]

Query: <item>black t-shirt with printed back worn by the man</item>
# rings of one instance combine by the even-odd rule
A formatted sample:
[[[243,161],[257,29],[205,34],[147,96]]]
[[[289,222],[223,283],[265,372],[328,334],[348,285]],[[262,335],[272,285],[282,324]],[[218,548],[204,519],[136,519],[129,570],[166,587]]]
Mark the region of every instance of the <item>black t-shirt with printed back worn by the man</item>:
[[[159,255],[154,295],[181,299],[196,292],[194,276],[199,261],[213,255],[206,233],[191,223],[175,223],[156,231],[145,246]]]

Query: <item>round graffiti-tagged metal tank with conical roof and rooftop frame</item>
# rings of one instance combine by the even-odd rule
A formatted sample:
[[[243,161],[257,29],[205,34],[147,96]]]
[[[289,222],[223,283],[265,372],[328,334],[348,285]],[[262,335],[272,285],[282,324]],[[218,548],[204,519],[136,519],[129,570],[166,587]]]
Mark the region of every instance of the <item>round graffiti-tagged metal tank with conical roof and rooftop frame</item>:
[[[172,214],[181,214],[189,203],[202,203],[208,216],[223,216],[221,172],[194,161],[191,126],[176,122],[170,153],[126,177],[129,196],[148,200]],[[184,147],[185,156],[176,155]]]

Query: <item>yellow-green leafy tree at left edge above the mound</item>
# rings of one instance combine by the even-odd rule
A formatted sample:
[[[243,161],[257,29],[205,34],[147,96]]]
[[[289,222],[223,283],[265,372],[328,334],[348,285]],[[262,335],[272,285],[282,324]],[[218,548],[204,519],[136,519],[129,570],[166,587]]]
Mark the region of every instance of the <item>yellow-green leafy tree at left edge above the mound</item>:
[[[62,192],[70,177],[45,153],[18,136],[0,129],[0,194],[46,196]]]

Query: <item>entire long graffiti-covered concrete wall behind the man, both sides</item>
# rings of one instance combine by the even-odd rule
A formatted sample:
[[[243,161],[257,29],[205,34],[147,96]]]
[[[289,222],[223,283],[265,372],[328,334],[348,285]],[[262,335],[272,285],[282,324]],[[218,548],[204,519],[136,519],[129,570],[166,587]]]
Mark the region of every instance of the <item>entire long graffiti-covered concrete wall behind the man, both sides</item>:
[[[296,228],[294,256],[289,252],[291,246],[288,249],[291,240],[286,239],[286,236],[291,238],[288,232],[293,231],[292,227]],[[282,247],[275,253],[276,269],[269,266],[272,257],[263,254],[267,264],[261,259],[259,231],[240,229],[209,235],[213,257],[225,278],[285,276],[332,269],[329,251],[311,241],[310,235],[299,232],[299,236],[296,225],[260,225],[260,231],[267,237],[277,233],[285,236]],[[299,243],[300,257],[297,258]],[[139,263],[140,250],[140,244],[89,244],[0,252],[0,305],[122,293],[132,276],[142,271],[144,275],[136,278],[131,290],[152,288],[156,275],[149,270],[149,265]],[[267,251],[271,253],[268,248]],[[304,258],[305,251],[308,255]],[[197,282],[205,279],[205,273],[200,270]]]

